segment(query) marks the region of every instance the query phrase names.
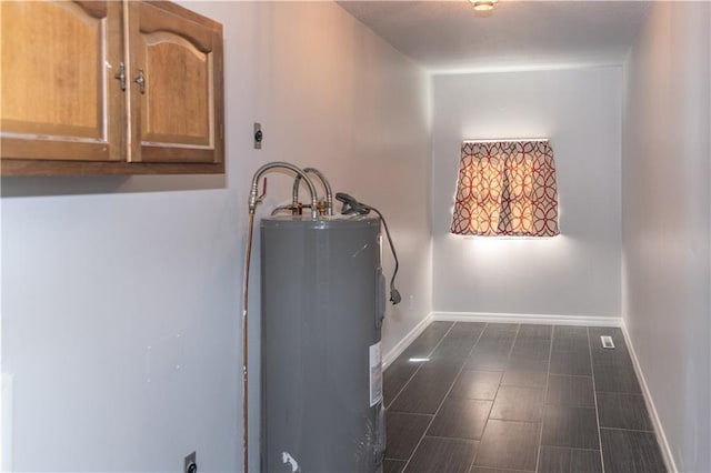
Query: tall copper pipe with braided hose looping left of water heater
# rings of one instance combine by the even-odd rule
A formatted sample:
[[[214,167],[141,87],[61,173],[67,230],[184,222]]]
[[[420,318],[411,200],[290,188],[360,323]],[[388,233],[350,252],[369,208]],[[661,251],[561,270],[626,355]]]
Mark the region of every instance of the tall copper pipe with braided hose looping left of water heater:
[[[299,179],[303,179],[309,187],[309,192],[311,193],[311,218],[318,219],[319,211],[317,209],[317,193],[316,187],[313,182],[309,179],[304,171],[300,168],[297,168],[293,164],[288,162],[274,161],[267,163],[259,168],[252,178],[252,185],[249,192],[249,223],[247,229],[247,249],[244,252],[244,274],[242,279],[242,459],[243,459],[243,472],[249,472],[249,423],[248,423],[248,412],[249,412],[249,403],[248,403],[248,372],[247,372],[247,308],[248,308],[248,294],[249,294],[249,266],[250,266],[250,256],[252,253],[252,233],[254,229],[254,212],[257,211],[257,205],[260,204],[264,198],[264,195],[259,194],[259,180],[261,177],[272,169],[287,169],[294,172]],[[318,174],[317,174],[318,175]],[[264,189],[266,192],[266,189]]]

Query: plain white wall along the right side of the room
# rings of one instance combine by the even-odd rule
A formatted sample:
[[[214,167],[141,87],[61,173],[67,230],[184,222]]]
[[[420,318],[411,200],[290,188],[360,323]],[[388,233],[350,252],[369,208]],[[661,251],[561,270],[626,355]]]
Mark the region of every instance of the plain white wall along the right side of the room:
[[[683,472],[711,471],[710,17],[654,2],[625,64],[623,313]]]

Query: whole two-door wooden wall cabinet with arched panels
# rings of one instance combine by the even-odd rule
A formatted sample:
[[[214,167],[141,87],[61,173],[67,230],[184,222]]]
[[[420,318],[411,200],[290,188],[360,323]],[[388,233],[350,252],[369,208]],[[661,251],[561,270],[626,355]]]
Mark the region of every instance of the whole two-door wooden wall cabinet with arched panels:
[[[0,1],[2,175],[224,172],[222,26],[171,2]]]

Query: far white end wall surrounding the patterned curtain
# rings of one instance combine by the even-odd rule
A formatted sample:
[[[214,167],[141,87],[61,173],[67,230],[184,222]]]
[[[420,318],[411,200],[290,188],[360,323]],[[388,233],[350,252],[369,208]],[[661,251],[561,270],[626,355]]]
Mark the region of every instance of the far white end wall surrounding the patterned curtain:
[[[435,76],[433,310],[620,316],[621,68]],[[461,141],[549,138],[561,235],[449,233]]]

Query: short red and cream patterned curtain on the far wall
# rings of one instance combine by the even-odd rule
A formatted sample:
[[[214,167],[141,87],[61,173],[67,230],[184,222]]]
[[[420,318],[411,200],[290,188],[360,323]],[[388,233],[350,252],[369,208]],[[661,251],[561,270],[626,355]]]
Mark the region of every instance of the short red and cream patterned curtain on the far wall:
[[[548,141],[464,141],[450,231],[559,234],[555,165]]]

